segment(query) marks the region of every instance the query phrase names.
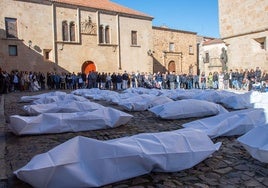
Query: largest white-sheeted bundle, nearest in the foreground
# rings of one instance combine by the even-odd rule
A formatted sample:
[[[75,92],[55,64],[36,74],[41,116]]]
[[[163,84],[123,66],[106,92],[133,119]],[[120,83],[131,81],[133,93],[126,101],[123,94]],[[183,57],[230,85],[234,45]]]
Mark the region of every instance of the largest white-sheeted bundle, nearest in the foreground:
[[[144,133],[109,141],[75,137],[14,174],[34,187],[99,187],[151,171],[193,167],[218,150],[201,131]]]

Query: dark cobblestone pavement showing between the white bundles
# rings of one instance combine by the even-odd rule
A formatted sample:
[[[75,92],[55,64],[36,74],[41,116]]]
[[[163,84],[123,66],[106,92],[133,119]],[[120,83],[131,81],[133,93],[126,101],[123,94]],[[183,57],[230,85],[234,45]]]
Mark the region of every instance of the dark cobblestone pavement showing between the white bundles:
[[[192,119],[161,120],[149,111],[131,112],[134,117],[124,126],[113,129],[96,130],[79,133],[64,133],[38,136],[16,136],[7,128],[10,115],[23,115],[22,106],[18,103],[23,95],[39,93],[10,93],[4,97],[4,125],[0,126],[1,188],[28,188],[30,185],[20,181],[13,175],[13,171],[24,166],[37,154],[47,152],[53,147],[77,135],[99,140],[109,140],[123,136],[130,136],[144,132],[171,131],[182,128],[181,125]],[[1,101],[1,100],[0,100]],[[94,101],[105,106],[120,107],[106,102]],[[129,112],[128,112],[129,113]],[[150,173],[140,177],[113,183],[105,188],[153,188],[153,187],[268,187],[268,164],[253,159],[237,142],[237,137],[221,137],[213,142],[222,142],[219,151],[191,169],[175,173]],[[258,138],[256,138],[258,139]],[[1,149],[1,147],[0,147]],[[1,155],[0,155],[1,157]],[[0,161],[0,162],[1,162]]]

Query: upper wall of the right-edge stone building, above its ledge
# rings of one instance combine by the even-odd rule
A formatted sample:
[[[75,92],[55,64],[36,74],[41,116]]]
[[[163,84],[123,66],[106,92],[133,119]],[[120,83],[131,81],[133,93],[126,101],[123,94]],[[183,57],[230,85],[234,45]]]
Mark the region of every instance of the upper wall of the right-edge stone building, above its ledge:
[[[222,38],[268,28],[267,0],[219,0]]]

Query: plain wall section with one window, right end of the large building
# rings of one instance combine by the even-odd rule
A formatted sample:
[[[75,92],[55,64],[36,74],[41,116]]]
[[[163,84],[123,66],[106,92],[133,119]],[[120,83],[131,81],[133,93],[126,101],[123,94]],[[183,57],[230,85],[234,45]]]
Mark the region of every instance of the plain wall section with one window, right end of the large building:
[[[120,55],[122,70],[152,72],[152,22],[120,17]],[[131,31],[137,31],[137,45],[131,45]]]

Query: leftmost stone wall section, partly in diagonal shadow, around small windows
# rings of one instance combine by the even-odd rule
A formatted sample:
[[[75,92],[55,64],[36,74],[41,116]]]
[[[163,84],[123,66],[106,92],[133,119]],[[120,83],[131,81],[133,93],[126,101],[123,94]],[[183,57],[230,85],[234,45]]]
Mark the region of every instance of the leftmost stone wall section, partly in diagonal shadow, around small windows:
[[[51,62],[44,61],[43,49],[53,49],[51,6],[1,0],[0,7],[3,8],[0,11],[0,66],[7,71],[47,70]],[[6,38],[5,18],[17,19],[18,39]],[[18,56],[9,56],[8,45],[17,45]],[[50,60],[53,59],[51,53]]]

